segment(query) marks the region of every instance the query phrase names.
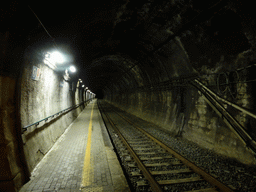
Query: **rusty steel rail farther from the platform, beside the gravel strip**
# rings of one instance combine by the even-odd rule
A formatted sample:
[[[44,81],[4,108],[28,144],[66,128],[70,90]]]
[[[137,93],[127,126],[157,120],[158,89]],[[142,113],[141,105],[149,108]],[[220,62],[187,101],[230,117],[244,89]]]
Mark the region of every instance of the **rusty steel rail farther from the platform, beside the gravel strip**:
[[[116,110],[115,110],[116,112]],[[153,140],[155,143],[157,143],[158,145],[160,145],[163,149],[165,149],[166,151],[168,151],[169,153],[171,153],[173,156],[175,156],[177,159],[179,159],[180,161],[182,161],[182,163],[184,163],[185,165],[187,165],[188,167],[190,167],[195,173],[201,175],[207,182],[209,182],[211,185],[216,186],[218,189],[220,189],[223,192],[231,192],[233,191],[232,189],[230,189],[229,187],[227,187],[226,185],[224,185],[223,183],[221,183],[220,181],[218,181],[216,178],[214,178],[213,176],[211,176],[209,173],[205,172],[203,169],[201,169],[200,167],[196,166],[194,163],[190,162],[189,160],[187,160],[185,157],[183,157],[182,155],[178,154],[176,151],[170,149],[167,145],[163,144],[161,141],[159,141],[158,139],[156,139],[154,136],[152,136],[151,134],[147,133],[146,131],[144,131],[143,129],[139,128],[135,123],[131,122],[129,119],[127,119],[126,117],[124,117],[123,115],[119,114],[118,112],[116,112],[121,118],[123,118],[125,121],[127,121],[129,124],[131,124],[133,127],[137,128],[140,132],[144,133],[148,138],[150,138],[151,140]]]

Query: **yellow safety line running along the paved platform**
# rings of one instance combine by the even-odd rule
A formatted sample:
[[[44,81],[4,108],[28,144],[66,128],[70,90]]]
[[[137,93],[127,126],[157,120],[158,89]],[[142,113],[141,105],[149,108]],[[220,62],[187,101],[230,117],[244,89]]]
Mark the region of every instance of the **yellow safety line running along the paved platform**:
[[[92,112],[91,112],[91,118],[89,123],[89,131],[88,131],[88,139],[87,139],[87,146],[86,146],[86,153],[84,158],[84,167],[83,167],[83,176],[82,176],[82,188],[87,187],[91,185],[90,182],[90,172],[91,172],[91,166],[90,166],[90,159],[91,159],[91,141],[92,141],[92,117],[93,117],[93,108],[94,103],[92,105]]]

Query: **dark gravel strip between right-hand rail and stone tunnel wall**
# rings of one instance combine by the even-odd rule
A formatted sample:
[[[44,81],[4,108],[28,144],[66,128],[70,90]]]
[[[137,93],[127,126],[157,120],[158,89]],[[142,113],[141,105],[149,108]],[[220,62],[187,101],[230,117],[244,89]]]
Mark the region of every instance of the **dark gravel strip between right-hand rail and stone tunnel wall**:
[[[134,115],[118,112],[229,187],[236,191],[256,191],[256,167],[218,155],[186,139],[173,137],[155,124]]]

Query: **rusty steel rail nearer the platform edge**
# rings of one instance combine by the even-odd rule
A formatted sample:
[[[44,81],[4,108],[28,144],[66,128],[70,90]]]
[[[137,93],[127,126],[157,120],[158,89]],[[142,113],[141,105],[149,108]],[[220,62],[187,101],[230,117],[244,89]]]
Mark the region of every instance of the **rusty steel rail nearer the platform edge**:
[[[100,106],[100,104],[98,103],[98,106]],[[139,157],[136,155],[136,153],[134,152],[134,150],[131,148],[131,146],[128,144],[127,140],[124,138],[124,136],[122,135],[122,133],[118,130],[118,128],[116,127],[116,125],[113,123],[113,121],[109,118],[108,114],[105,113],[105,111],[102,109],[102,107],[100,106],[101,111],[104,112],[106,118],[108,119],[109,123],[111,124],[111,126],[115,129],[115,131],[117,132],[118,136],[121,138],[121,140],[123,141],[123,143],[125,144],[125,146],[127,147],[128,151],[130,152],[131,156],[134,158],[135,162],[137,163],[139,169],[142,171],[143,175],[145,176],[145,178],[148,180],[150,186],[152,187],[152,189],[156,192],[161,192],[163,191],[161,186],[159,185],[159,183],[154,179],[154,177],[152,176],[152,174],[147,170],[146,166],[141,162],[141,160],[139,159]]]

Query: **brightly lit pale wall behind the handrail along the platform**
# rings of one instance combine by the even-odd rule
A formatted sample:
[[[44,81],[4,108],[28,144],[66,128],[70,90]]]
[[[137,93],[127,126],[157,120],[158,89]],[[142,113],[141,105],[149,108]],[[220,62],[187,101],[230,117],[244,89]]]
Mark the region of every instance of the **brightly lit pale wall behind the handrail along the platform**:
[[[33,66],[40,68],[39,80],[32,80]],[[21,82],[21,125],[22,127],[44,119],[63,109],[83,101],[77,85],[66,82],[62,75],[44,64],[31,63],[24,68]],[[83,105],[60,115],[53,120],[28,128],[22,135],[24,153],[31,172],[44,155],[51,149],[66,128],[79,115]]]

